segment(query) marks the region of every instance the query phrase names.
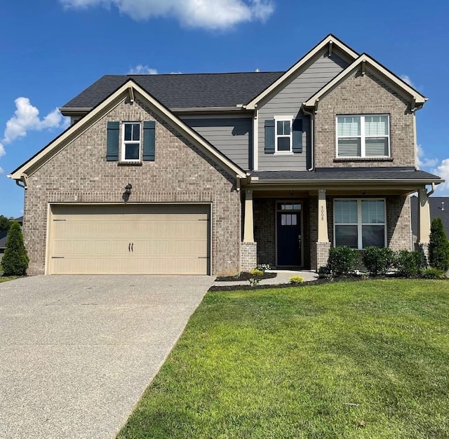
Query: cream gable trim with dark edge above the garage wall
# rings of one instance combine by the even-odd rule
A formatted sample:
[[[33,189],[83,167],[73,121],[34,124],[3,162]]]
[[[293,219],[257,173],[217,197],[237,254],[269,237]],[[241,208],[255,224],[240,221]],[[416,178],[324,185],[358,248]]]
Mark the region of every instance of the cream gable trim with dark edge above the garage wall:
[[[22,180],[33,173],[35,170],[41,168],[47,161],[51,160],[55,154],[58,154],[63,148],[67,147],[74,139],[79,137],[88,128],[93,126],[93,124],[100,119],[104,114],[110,112],[114,107],[123,102],[126,97],[131,97],[134,99],[135,94],[142,97],[143,100],[148,102],[149,106],[154,109],[158,114],[161,115],[163,119],[168,121],[170,125],[175,126],[182,135],[191,141],[196,147],[199,147],[203,153],[213,159],[215,163],[220,163],[224,166],[230,173],[236,175],[236,177],[246,177],[246,173],[239,168],[234,162],[230,161],[229,158],[224,156],[220,151],[215,149],[207,140],[205,140],[201,135],[196,133],[192,128],[189,128],[184,122],[177,118],[173,113],[171,113],[166,107],[156,100],[152,95],[149,95],[146,90],[140,87],[135,81],[129,79],[126,83],[123,83],[119,88],[117,88],[114,93],[109,95],[105,100],[98,104],[94,109],[91,110],[86,116],[76,122],[74,125],[70,126],[55,138],[51,143],[43,147],[41,151],[35,154],[28,161],[23,163],[17,169],[13,171],[8,177],[13,180]],[[26,182],[25,182],[26,185]]]

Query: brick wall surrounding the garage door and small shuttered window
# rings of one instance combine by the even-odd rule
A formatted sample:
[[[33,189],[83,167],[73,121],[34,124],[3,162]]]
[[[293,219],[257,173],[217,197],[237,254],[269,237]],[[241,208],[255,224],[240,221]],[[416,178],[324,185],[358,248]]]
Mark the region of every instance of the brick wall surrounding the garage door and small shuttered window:
[[[106,161],[107,121],[156,121],[156,160],[142,166]],[[48,203],[211,203],[212,271],[240,269],[241,203],[235,177],[213,163],[143,102],[122,102],[28,179],[23,232],[29,274],[45,266]]]

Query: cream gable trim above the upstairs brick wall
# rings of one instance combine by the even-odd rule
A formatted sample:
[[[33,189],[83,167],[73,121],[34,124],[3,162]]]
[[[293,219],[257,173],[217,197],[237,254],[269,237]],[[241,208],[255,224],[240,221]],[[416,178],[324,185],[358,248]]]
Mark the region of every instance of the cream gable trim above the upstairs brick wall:
[[[304,107],[306,108],[316,108],[317,102],[320,100],[323,95],[326,95],[330,90],[333,90],[335,86],[337,86],[340,82],[347,79],[347,77],[354,72],[360,65],[362,65],[362,74],[365,72],[365,65],[367,63],[370,67],[373,67],[377,72],[382,74],[389,83],[396,88],[396,90],[401,94],[406,94],[410,98],[410,102],[415,108],[421,108],[424,105],[424,102],[427,101],[427,97],[423,96],[421,93],[417,92],[414,88],[410,87],[406,82],[402,79],[398,78],[394,73],[390,72],[389,69],[386,69],[379,62],[371,58],[366,53],[360,55],[351,65],[349,65],[346,69],[344,69],[340,74],[335,76],[335,78],[326,84],[321,90],[317,91],[309,100],[303,102]]]

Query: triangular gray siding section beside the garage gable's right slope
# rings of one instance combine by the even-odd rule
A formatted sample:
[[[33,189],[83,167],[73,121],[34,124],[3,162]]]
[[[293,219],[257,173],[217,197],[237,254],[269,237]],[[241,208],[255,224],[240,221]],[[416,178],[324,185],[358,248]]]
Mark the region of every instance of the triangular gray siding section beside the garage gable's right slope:
[[[242,169],[253,168],[253,119],[211,116],[182,121]]]

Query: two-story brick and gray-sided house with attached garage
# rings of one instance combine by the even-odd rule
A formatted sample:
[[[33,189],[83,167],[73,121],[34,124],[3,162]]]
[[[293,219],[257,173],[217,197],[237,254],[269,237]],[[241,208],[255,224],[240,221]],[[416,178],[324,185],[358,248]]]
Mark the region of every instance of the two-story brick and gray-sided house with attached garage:
[[[287,72],[103,76],[9,175],[29,273],[316,270],[331,245],[411,249],[416,191],[426,250],[426,100],[333,35]]]

